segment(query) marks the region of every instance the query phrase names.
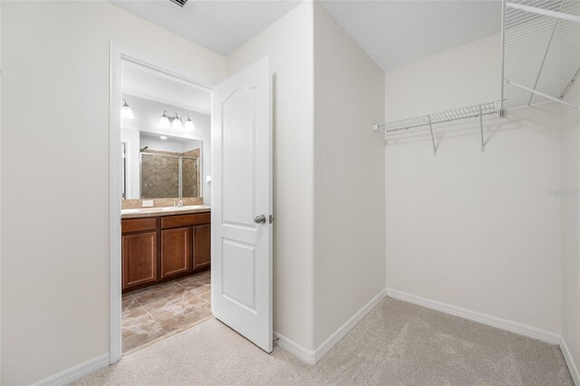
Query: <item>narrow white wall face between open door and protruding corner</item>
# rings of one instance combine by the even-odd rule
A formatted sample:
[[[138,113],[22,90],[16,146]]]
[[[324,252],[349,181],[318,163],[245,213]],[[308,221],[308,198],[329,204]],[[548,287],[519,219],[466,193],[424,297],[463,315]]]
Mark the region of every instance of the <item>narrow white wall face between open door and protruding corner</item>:
[[[274,330],[313,349],[314,31],[304,2],[227,57],[269,55],[274,84]]]

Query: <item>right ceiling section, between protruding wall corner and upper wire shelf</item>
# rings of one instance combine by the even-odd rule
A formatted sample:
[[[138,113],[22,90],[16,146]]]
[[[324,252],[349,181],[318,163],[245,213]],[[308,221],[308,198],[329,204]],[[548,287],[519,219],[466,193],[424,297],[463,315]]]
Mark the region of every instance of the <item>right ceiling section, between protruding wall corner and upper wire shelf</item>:
[[[501,29],[500,1],[322,0],[320,3],[384,71],[499,33]]]

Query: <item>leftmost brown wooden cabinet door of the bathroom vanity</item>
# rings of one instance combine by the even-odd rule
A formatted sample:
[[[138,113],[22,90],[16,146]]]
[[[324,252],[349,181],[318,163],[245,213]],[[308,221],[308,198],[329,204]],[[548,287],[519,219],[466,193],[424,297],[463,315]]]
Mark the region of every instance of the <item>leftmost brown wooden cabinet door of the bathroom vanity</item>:
[[[157,233],[122,236],[123,289],[157,280]]]

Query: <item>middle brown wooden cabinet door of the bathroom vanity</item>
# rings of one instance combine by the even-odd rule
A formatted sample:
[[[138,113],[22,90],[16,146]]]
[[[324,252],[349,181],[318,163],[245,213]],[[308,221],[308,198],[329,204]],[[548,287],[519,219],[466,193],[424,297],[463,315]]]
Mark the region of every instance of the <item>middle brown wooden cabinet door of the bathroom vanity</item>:
[[[161,231],[161,278],[191,270],[191,228]]]

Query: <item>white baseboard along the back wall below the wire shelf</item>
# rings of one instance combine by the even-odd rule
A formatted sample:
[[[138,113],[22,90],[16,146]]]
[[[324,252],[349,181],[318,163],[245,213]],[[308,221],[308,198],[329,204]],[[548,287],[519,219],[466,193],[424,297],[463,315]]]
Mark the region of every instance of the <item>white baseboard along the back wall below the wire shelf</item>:
[[[497,327],[499,329],[506,330],[511,333],[518,333],[520,335],[537,339],[538,341],[551,344],[560,343],[559,333],[552,333],[551,331],[542,330],[540,328],[532,327],[526,324],[512,322],[507,319],[501,319],[496,316],[488,314],[481,314],[476,311],[467,310],[465,308],[460,308],[455,305],[441,303],[436,300],[431,300],[417,296],[415,294],[407,294],[391,288],[387,288],[387,296],[392,297],[394,299],[402,300],[404,302],[418,304],[423,307],[430,308],[432,310],[440,311],[441,313],[451,314],[462,317],[464,319],[469,319],[470,321],[488,324],[492,327]]]

